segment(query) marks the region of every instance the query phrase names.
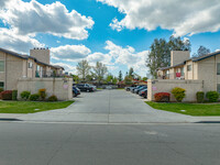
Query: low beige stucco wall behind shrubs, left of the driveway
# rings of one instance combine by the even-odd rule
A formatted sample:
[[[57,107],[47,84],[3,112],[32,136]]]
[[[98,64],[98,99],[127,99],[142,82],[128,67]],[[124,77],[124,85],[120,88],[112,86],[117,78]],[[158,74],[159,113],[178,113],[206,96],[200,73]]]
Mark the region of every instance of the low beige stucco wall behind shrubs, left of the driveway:
[[[37,94],[38,89],[46,89],[47,97],[55,95],[58,100],[73,99],[72,78],[21,78],[18,81],[18,96],[24,90]]]

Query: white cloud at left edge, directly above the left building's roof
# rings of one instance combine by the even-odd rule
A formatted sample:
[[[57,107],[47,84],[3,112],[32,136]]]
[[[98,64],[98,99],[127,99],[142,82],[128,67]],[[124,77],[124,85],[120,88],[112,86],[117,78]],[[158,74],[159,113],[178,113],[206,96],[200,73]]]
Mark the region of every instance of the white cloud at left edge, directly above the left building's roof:
[[[44,47],[37,40],[18,35],[13,30],[0,28],[0,46],[14,52],[26,54],[29,50],[33,47]]]

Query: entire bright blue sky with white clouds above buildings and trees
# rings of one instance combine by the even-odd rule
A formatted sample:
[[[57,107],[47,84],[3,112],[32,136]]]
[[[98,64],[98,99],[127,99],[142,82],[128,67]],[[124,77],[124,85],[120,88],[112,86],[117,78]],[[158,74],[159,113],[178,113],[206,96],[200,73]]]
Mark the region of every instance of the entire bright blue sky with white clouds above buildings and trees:
[[[29,54],[50,47],[51,61],[77,74],[87,59],[118,76],[146,76],[154,38],[189,38],[191,55],[220,50],[219,0],[0,0],[0,47]]]

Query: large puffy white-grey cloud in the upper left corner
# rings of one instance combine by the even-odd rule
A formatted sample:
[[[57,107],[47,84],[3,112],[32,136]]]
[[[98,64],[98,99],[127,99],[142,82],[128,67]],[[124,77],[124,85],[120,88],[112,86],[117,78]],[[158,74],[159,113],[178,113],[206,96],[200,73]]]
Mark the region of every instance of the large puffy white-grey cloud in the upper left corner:
[[[3,1],[0,1],[3,4]],[[91,29],[91,18],[81,15],[77,11],[68,11],[61,2],[41,4],[35,0],[23,2],[11,0],[0,12],[0,19],[10,29],[21,35],[35,35],[48,33],[73,40],[88,37],[87,29]]]

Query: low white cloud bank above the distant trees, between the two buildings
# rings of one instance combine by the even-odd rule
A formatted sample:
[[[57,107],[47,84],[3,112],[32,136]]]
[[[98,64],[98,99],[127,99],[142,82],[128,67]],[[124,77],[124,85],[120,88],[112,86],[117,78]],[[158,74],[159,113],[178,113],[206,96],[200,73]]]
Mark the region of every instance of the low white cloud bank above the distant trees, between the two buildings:
[[[114,72],[120,69],[121,66],[125,66],[128,69],[133,67],[134,72],[141,76],[146,76],[148,69],[145,66],[145,61],[148,56],[148,51],[135,52],[131,46],[122,47],[116,45],[111,41],[107,41],[103,48],[107,50],[108,53],[91,53],[91,51],[85,45],[53,47],[51,48],[51,52],[52,57],[56,61],[63,61],[63,64],[65,64],[66,61],[68,63],[73,62],[73,64],[76,65],[76,63],[81,59],[87,59],[91,66],[95,66],[97,62],[103,63],[110,72]],[[64,66],[67,70],[76,70],[73,66]]]

